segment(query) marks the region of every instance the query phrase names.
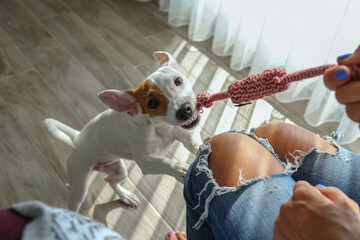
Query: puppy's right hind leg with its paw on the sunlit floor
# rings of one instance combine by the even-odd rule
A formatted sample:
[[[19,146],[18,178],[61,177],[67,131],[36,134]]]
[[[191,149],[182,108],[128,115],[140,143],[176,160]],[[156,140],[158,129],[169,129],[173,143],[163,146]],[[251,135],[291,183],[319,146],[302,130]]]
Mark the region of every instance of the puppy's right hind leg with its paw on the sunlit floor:
[[[108,164],[97,164],[94,166],[94,170],[108,174],[105,181],[114,189],[121,202],[129,207],[139,206],[139,198],[120,185],[128,176],[125,163],[122,159]]]

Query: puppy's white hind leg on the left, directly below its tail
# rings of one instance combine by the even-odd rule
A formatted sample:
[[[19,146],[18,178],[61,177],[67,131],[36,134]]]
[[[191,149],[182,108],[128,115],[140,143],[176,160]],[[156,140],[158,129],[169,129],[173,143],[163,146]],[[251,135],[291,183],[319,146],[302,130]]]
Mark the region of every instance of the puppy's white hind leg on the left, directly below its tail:
[[[84,166],[81,159],[73,152],[67,162],[67,173],[69,177],[69,209],[78,212],[85,200],[89,187],[91,166]]]

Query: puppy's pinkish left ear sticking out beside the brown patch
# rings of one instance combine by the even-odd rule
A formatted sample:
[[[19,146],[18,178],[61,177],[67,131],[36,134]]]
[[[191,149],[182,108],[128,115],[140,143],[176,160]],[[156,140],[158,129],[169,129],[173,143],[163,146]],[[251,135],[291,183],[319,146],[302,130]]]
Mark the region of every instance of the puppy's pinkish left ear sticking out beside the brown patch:
[[[136,98],[125,91],[105,90],[99,93],[99,98],[109,108],[126,112],[130,116],[135,116],[141,112],[141,106]]]

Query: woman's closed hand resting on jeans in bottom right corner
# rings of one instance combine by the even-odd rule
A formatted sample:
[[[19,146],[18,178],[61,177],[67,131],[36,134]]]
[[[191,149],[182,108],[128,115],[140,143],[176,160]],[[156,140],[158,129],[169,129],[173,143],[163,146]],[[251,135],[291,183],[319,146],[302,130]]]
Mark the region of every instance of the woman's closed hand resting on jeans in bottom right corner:
[[[298,181],[280,208],[273,240],[360,239],[359,206],[335,187]]]

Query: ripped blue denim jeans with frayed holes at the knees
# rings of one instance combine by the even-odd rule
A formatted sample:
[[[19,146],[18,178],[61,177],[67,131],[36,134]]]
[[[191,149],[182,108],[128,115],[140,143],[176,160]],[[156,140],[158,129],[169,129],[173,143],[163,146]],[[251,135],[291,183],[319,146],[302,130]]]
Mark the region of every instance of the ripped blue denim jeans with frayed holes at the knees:
[[[184,185],[189,240],[272,239],[280,205],[291,198],[298,180],[335,186],[360,203],[360,156],[338,146],[337,134],[330,140],[337,146],[337,153],[314,148],[295,164],[281,162],[269,142],[254,133],[239,134],[258,141],[285,170],[250,180],[242,179],[240,171],[238,186],[220,187],[208,166],[211,146],[204,145],[191,164]]]

